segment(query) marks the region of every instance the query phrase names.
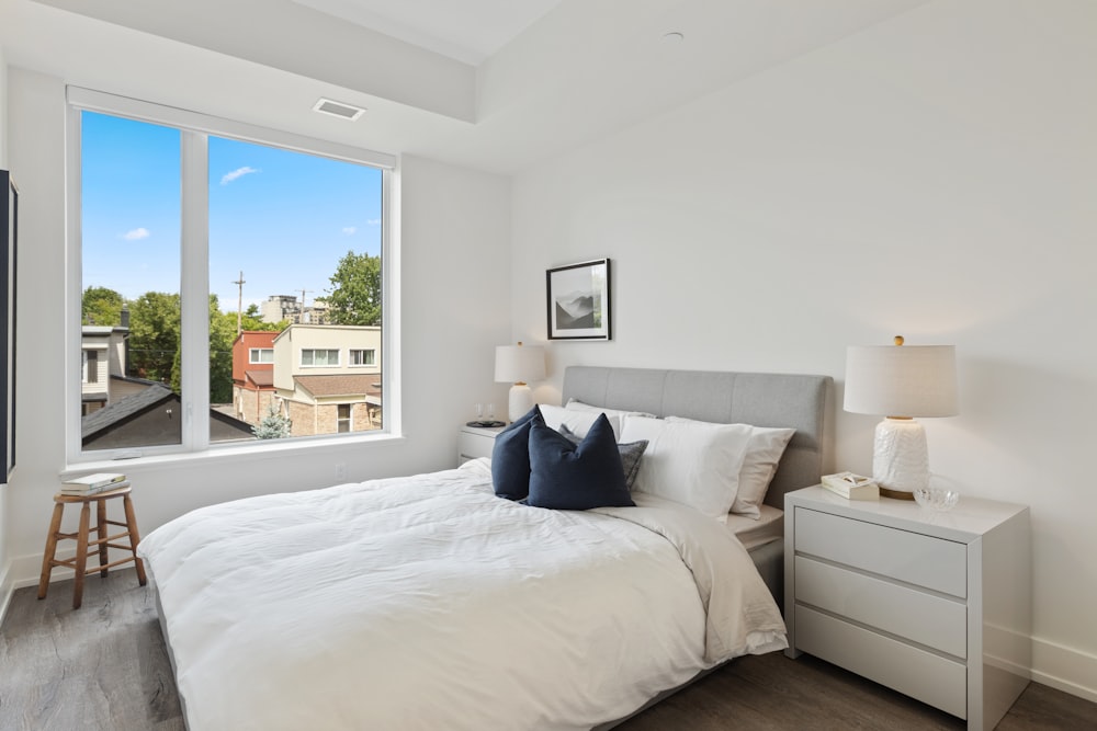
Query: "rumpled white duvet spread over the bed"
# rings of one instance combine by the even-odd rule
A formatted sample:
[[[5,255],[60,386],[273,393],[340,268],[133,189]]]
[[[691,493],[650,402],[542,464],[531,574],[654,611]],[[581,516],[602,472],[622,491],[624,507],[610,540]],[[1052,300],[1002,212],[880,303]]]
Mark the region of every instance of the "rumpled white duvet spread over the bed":
[[[738,540],[645,505],[528,507],[477,460],[205,507],[138,552],[191,731],[585,729],[785,647]]]

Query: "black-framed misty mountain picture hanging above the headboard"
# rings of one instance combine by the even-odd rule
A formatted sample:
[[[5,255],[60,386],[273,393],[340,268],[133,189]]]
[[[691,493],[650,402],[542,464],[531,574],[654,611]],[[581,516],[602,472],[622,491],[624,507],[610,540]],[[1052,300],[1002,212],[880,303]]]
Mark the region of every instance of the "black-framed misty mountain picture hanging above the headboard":
[[[609,340],[610,260],[551,269],[548,340]]]

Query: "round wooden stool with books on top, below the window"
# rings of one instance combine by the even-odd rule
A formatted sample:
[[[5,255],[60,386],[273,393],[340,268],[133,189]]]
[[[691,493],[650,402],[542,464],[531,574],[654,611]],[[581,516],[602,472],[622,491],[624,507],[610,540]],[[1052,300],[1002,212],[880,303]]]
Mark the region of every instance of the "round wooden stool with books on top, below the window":
[[[114,498],[122,498],[122,504],[126,512],[125,523],[106,519],[106,501]],[[134,506],[129,500],[129,486],[117,490],[98,492],[92,495],[68,495],[58,492],[54,495],[54,502],[56,503],[54,505],[54,517],[49,522],[49,535],[46,536],[46,553],[42,558],[42,579],[38,581],[39,599],[46,598],[46,591],[49,589],[49,573],[55,566],[68,567],[76,571],[76,590],[72,593],[73,609],[80,608],[80,602],[83,599],[83,578],[89,573],[98,571],[99,575],[105,576],[108,569],[133,561],[137,568],[137,581],[140,582],[142,586],[145,585],[145,564],[137,558],[137,544],[140,541],[140,536],[137,535],[137,518],[134,517]],[[80,529],[77,533],[60,533],[61,514],[65,512],[66,503],[83,503],[83,507],[80,510]],[[91,522],[91,503],[95,503],[95,535],[98,538],[89,541],[88,524]],[[126,530],[125,533],[110,536],[108,535],[106,527],[109,525],[117,525]],[[129,538],[128,544],[111,542],[112,540],[125,537]],[[60,561],[54,557],[57,553],[57,541],[65,538],[76,541],[76,556]],[[99,546],[99,567],[92,567],[91,569],[88,569],[89,546]],[[129,551],[131,555],[124,559],[109,563],[106,558],[108,548],[121,548]]]

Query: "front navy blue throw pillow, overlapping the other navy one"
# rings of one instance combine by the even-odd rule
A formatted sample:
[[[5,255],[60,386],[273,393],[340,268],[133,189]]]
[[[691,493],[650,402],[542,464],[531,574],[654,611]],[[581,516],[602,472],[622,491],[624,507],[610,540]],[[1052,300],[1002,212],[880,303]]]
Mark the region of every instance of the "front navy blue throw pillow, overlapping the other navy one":
[[[543,420],[530,427],[530,496],[534,507],[585,511],[635,505],[624,483],[624,470],[613,427],[606,414],[579,444],[550,429]]]

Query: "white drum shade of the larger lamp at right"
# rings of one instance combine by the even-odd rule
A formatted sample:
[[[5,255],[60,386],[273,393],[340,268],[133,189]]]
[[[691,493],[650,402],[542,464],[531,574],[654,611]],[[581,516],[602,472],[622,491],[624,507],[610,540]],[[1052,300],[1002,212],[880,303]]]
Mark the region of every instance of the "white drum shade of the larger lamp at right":
[[[957,415],[955,347],[850,345],[844,408],[882,416]]]

